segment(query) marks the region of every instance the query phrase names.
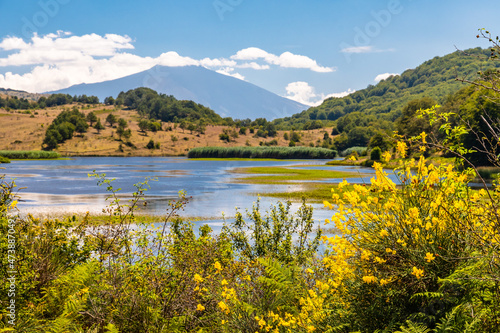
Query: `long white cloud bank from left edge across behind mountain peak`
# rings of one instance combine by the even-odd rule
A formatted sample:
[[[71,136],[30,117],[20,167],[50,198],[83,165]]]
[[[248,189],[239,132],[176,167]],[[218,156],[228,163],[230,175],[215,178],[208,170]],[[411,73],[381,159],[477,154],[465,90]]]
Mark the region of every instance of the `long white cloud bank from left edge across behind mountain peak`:
[[[245,78],[235,72],[237,68],[268,70],[278,66],[320,73],[334,71],[307,56],[290,52],[277,56],[255,47],[240,50],[230,58],[215,59],[193,59],[174,51],[158,57],[143,57],[133,54],[133,50],[133,40],[127,35],[74,36],[71,32],[57,31],[43,36],[35,33],[28,41],[8,36],[0,40],[0,51],[7,54],[0,56],[0,72],[7,66],[31,66],[32,69],[24,74],[0,74],[0,87],[45,92],[80,83],[113,80],[155,65],[203,66],[241,80]]]

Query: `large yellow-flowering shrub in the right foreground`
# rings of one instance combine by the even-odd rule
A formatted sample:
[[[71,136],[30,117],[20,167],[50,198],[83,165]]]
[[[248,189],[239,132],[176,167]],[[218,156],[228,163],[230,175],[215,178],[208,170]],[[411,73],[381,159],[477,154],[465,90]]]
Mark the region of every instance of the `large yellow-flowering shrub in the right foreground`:
[[[426,135],[421,139],[425,143]],[[398,143],[401,157],[407,150]],[[470,170],[434,166],[420,157],[396,170],[397,184],[381,164],[373,167],[370,186],[342,183],[325,202],[335,210],[330,221],[339,234],[323,237],[330,249],[324,262],[337,285],[346,286],[335,291],[350,304],[356,325],[365,329],[400,316],[425,314],[435,322],[453,307],[453,297],[423,295],[446,294],[440,279],[478,248],[495,248],[500,233],[494,215],[500,210],[495,201],[485,200],[485,191],[471,190]]]

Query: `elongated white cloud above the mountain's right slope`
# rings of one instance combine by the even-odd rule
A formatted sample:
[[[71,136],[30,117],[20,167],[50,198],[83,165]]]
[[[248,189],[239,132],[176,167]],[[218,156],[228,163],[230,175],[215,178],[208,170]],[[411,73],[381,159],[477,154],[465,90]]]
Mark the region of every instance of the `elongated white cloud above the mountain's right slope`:
[[[333,67],[323,67],[318,65],[316,60],[309,57],[293,54],[291,52],[283,52],[281,55],[277,56],[272,53],[268,53],[257,47],[249,47],[236,52],[235,55],[231,56],[233,60],[258,60],[262,59],[268,64],[277,65],[279,67],[285,68],[305,68],[310,69],[313,72],[319,73],[329,73],[334,72]]]

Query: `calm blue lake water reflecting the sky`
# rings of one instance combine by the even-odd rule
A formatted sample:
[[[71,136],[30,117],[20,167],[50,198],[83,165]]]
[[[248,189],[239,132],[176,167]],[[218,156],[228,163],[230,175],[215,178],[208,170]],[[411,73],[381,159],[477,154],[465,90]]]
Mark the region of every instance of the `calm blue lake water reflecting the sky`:
[[[121,188],[123,199],[130,198],[135,190],[133,184],[154,177],[146,192],[148,205],[141,207],[142,212],[164,214],[167,202],[178,197],[178,192],[186,191],[192,197],[181,215],[203,217],[214,227],[222,225],[222,212],[234,216],[236,207],[250,209],[258,193],[297,190],[300,185],[251,185],[236,183],[238,177],[248,176],[231,172],[235,168],[251,166],[293,166],[311,165],[328,170],[354,171],[359,177],[350,182],[367,182],[373,170],[360,167],[322,167],[325,160],[304,161],[200,161],[182,157],[78,157],[70,160],[12,161],[4,164],[0,173],[6,179],[15,179],[21,190],[19,209],[21,213],[62,214],[62,213],[99,213],[106,207],[105,186],[97,186],[97,180],[89,173],[105,173],[114,178],[112,185]],[[338,183],[342,179],[328,179],[322,182]],[[325,198],[328,199],[328,198]],[[261,198],[261,209],[267,210],[278,199]],[[296,209],[299,204],[294,204]],[[315,204],[314,217],[324,221],[331,217],[331,211],[323,205]]]

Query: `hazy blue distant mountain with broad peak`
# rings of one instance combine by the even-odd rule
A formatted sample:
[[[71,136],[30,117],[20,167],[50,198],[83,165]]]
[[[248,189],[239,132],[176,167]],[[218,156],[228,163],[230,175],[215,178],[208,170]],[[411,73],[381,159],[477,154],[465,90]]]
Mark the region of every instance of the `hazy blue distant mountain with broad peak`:
[[[200,66],[155,66],[150,70],[116,80],[75,85],[51,93],[94,95],[104,101],[120,92],[146,87],[178,100],[192,100],[233,119],[292,116],[307,107],[256,85],[219,74]]]

